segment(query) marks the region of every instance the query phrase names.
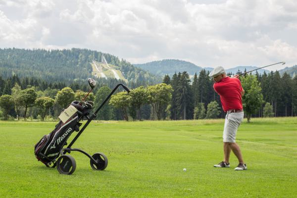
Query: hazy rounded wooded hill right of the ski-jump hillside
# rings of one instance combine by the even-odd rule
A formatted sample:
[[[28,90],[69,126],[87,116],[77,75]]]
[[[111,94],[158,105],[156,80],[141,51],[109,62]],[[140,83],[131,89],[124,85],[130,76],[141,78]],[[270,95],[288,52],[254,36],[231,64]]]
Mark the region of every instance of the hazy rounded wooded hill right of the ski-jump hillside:
[[[195,72],[198,74],[202,70],[202,67],[199,67],[191,62],[176,59],[166,59],[144,64],[134,64],[134,66],[160,76],[164,76],[166,74],[172,76],[175,72],[178,73],[183,71],[187,71],[190,75],[194,75]]]

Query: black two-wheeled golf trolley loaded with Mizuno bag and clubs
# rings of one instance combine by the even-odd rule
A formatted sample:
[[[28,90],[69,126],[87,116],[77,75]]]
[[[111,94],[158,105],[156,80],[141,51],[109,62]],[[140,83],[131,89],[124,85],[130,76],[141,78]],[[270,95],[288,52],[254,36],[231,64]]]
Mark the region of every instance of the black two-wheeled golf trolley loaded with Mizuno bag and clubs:
[[[86,95],[84,99],[81,101],[73,101],[66,108],[63,109],[59,119],[60,121],[55,126],[55,129],[45,135],[36,145],[35,145],[35,156],[36,158],[43,162],[47,167],[54,168],[57,167],[57,170],[61,174],[72,174],[76,169],[75,159],[66,153],[70,153],[71,151],[79,151],[90,158],[91,167],[94,170],[104,170],[108,164],[107,157],[101,153],[97,152],[92,156],[87,152],[78,149],[71,148],[78,137],[83,133],[83,131],[87,128],[90,122],[96,118],[98,111],[102,108],[102,106],[110,99],[113,93],[118,89],[118,87],[122,86],[128,93],[129,89],[123,85],[118,84],[111,93],[107,96],[107,98],[101,103],[98,109],[93,112],[92,108],[94,106],[94,102],[85,101],[90,92],[94,89],[96,85],[96,81],[89,78],[88,80],[91,90]],[[87,120],[86,124],[81,128],[82,123],[80,121]],[[78,134],[73,138],[71,143],[67,148],[63,148],[67,145],[67,140],[70,135],[77,131]]]

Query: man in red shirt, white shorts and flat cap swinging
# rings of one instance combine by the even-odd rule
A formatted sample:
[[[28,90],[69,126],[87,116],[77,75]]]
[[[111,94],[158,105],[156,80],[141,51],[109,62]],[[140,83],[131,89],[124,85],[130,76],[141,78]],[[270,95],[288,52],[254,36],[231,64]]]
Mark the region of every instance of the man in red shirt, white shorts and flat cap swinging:
[[[234,170],[246,170],[247,165],[244,162],[239,146],[235,142],[237,129],[244,119],[242,96],[245,91],[239,80],[239,75],[230,78],[226,76],[223,67],[216,67],[210,72],[209,77],[212,77],[215,81],[213,89],[219,94],[223,110],[227,112],[223,132],[224,160],[214,165],[214,167],[230,167],[229,158],[232,150],[239,161]]]

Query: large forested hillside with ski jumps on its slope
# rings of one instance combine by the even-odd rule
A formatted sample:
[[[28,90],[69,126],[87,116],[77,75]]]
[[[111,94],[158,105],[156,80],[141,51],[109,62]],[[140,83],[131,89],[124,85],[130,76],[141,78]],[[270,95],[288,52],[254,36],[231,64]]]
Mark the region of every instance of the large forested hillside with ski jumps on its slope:
[[[9,78],[16,74],[18,77],[35,77],[51,82],[85,80],[95,77],[94,61],[101,61],[104,55],[109,68],[103,68],[109,78],[115,78],[134,84],[156,84],[161,77],[134,67],[118,57],[90,49],[0,49],[0,76]],[[98,76],[101,77],[101,76]]]

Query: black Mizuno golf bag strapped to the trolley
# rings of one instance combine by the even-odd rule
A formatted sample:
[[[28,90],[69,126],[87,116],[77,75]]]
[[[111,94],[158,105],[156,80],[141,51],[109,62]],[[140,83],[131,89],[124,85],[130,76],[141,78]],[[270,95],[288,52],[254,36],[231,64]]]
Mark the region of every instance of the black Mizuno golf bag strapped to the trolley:
[[[85,104],[85,105],[83,105]],[[65,123],[61,120],[55,126],[55,129],[45,135],[35,145],[35,156],[38,160],[49,166],[49,163],[54,161],[60,154],[60,150],[67,145],[67,140],[74,131],[79,131],[79,127],[82,125],[79,121],[90,114],[94,103],[92,101],[79,102],[73,101],[71,103],[77,109]],[[64,111],[65,109],[63,109]],[[62,112],[63,112],[62,111]]]

